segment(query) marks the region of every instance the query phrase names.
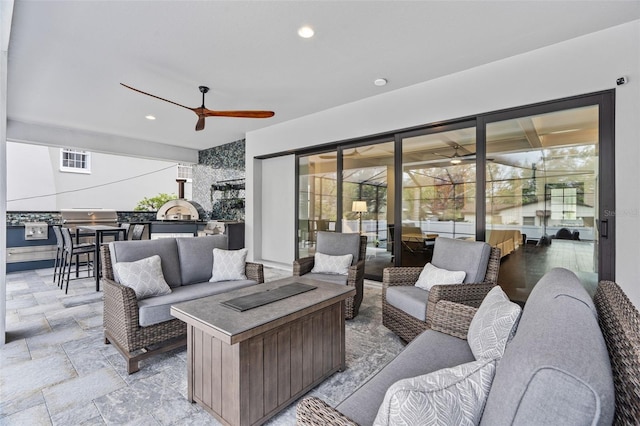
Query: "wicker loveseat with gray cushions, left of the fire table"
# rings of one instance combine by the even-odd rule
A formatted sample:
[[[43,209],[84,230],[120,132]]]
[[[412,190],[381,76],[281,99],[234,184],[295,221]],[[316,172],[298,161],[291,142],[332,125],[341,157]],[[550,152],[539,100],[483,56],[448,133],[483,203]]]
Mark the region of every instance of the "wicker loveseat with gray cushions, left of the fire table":
[[[101,247],[105,343],[124,356],[129,374],[139,370],[140,360],[186,345],[186,325],[171,316],[172,304],[264,282],[263,265],[247,262],[247,280],[210,283],[214,248],[226,249],[227,237],[114,241]],[[118,282],[113,265],[153,255],[160,256],[172,292],[137,300]]]

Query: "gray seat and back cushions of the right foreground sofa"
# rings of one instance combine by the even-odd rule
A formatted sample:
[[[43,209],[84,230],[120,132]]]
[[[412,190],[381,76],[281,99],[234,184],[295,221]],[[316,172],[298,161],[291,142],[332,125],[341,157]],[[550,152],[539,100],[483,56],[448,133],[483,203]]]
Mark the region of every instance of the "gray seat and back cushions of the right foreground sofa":
[[[323,416],[325,424],[351,425],[350,419],[371,425],[398,380],[471,361],[466,340],[427,330],[335,410],[315,398],[302,400],[298,424],[320,424],[314,422]],[[611,364],[594,302],[572,272],[554,269],[531,292],[497,364],[481,424],[608,425],[614,408]]]

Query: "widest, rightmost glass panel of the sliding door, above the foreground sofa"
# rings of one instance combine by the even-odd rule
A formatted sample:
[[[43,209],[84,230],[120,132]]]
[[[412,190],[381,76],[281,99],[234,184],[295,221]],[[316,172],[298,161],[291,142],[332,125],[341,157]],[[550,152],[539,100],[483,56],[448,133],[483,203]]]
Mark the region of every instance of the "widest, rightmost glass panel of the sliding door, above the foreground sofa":
[[[597,285],[598,134],[597,105],[487,124],[486,238],[513,300],[554,267]]]

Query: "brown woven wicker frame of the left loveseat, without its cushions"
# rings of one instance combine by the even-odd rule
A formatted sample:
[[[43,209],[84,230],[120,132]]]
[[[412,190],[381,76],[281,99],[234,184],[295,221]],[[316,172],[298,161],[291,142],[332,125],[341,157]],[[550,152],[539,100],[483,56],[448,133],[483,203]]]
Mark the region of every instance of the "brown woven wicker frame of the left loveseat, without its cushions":
[[[127,372],[139,370],[138,362],[187,344],[187,326],[179,319],[142,327],[139,324],[135,292],[113,279],[113,265],[108,244],[101,247],[102,285],[104,291],[104,340],[112,343],[127,360]],[[250,280],[264,282],[263,265],[247,262],[245,274]]]

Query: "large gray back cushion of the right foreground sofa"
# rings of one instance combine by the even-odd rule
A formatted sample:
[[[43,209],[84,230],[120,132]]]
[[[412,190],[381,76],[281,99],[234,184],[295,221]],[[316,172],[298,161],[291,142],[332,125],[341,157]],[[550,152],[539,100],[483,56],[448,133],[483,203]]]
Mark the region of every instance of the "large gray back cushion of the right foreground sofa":
[[[611,424],[613,378],[594,312],[575,274],[545,274],[498,364],[481,424]]]

